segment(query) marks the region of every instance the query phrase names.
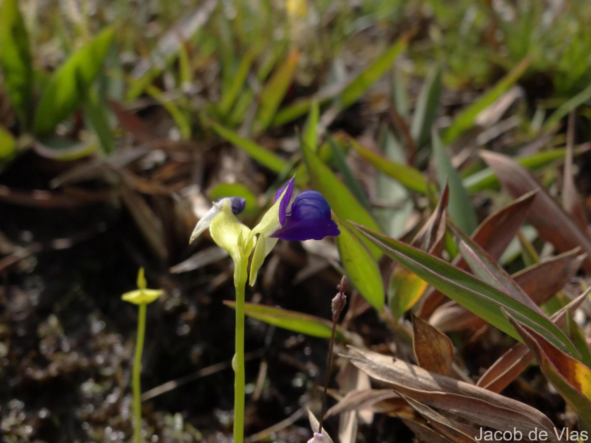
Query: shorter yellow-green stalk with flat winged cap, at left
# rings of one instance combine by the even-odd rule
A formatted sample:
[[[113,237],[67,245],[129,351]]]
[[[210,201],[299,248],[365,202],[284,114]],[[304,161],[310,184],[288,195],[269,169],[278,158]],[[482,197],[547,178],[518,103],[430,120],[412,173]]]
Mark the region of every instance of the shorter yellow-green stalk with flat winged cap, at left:
[[[161,289],[146,289],[147,283],[144,276],[144,268],[138,271],[138,289],[125,292],[121,299],[138,305],[138,333],[135,339],[134,368],[132,370],[132,386],[134,392],[134,443],[140,443],[142,429],[142,390],[140,377],[142,372],[142,351],[144,350],[144,337],[146,330],[146,307],[152,301],[160,297],[163,291]]]

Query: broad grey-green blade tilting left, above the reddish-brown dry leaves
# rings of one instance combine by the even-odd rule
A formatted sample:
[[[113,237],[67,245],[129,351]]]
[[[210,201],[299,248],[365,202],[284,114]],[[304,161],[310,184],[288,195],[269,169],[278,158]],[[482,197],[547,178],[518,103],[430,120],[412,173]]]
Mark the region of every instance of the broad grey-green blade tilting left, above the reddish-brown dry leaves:
[[[435,130],[431,134],[431,143],[433,144],[433,158],[437,167],[439,187],[443,189],[446,181],[449,185],[450,197],[447,213],[460,229],[466,233],[472,233],[478,226],[472,201],[470,201],[470,197],[462,184],[462,179],[456,168],[453,167],[446,148],[441,143],[439,134]]]

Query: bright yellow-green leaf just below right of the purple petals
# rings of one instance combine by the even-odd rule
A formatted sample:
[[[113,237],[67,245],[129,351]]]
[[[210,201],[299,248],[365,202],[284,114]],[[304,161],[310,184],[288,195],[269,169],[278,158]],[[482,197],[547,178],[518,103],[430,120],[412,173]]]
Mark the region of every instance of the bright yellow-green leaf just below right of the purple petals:
[[[384,310],[385,292],[379,266],[371,251],[350,225],[335,216],[340,235],[336,237],[340,262],[345,266],[349,281],[378,312]]]

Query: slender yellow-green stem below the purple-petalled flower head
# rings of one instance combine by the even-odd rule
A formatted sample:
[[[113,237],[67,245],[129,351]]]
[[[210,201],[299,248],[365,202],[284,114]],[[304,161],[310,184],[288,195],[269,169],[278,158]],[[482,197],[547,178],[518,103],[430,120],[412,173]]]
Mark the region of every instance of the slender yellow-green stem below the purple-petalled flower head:
[[[236,353],[232,361],[234,368],[234,443],[242,443],[244,440],[244,299],[246,266],[248,260],[241,260],[240,266],[236,266],[234,283],[236,287]],[[238,263],[236,263],[238,264]]]

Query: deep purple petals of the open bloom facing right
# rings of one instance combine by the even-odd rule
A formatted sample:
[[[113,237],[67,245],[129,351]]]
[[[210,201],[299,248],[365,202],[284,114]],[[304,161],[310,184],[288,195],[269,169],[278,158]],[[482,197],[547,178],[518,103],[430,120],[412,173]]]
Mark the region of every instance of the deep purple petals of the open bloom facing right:
[[[304,191],[298,195],[287,212],[293,186],[294,178],[275,194],[277,201],[287,187],[279,206],[281,227],[269,237],[282,240],[322,240],[326,236],[339,235],[339,227],[332,220],[330,206],[317,191]]]

